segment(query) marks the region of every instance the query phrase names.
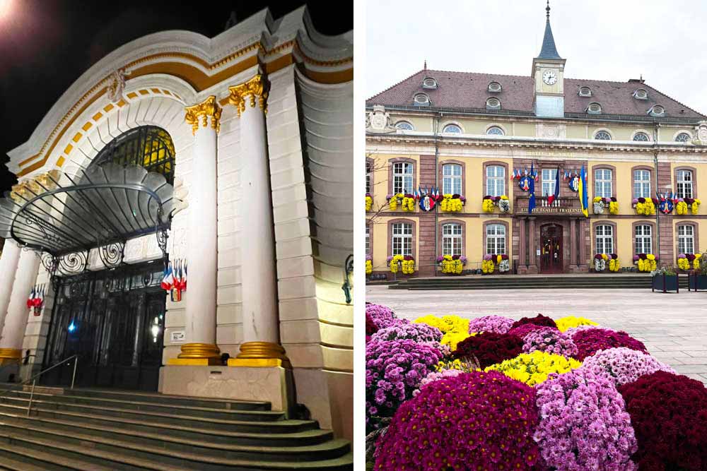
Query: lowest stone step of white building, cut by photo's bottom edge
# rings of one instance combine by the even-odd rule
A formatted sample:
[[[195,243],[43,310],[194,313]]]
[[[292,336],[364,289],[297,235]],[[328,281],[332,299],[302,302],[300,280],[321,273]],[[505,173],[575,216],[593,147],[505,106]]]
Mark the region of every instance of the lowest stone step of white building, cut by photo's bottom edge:
[[[59,437],[57,437],[59,438]],[[91,463],[89,467],[66,467],[69,470],[90,470],[90,471],[265,471],[265,470],[317,470],[317,471],[344,471],[353,470],[353,455],[349,452],[339,458],[311,461],[282,461],[271,460],[224,460],[197,455],[185,458],[187,454],[182,453],[179,464],[168,463],[164,460],[165,455],[160,455],[159,460],[144,458],[139,452],[129,450],[125,453],[104,449],[105,446],[91,443],[98,441],[81,441],[74,437],[62,436],[62,439],[48,439],[40,436],[30,436],[27,431],[16,433],[8,431],[5,427],[0,428],[0,450],[6,451],[11,448],[13,454],[26,456],[28,451],[37,453],[37,449],[42,452],[54,455],[54,460],[47,460],[48,463],[62,461],[80,460]],[[6,443],[9,445],[6,446]],[[46,458],[46,457],[45,457]],[[172,461],[177,460],[173,455]],[[63,463],[62,463],[63,465]],[[47,468],[49,470],[51,468]],[[62,470],[62,468],[54,468]],[[53,471],[53,470],[52,470]]]

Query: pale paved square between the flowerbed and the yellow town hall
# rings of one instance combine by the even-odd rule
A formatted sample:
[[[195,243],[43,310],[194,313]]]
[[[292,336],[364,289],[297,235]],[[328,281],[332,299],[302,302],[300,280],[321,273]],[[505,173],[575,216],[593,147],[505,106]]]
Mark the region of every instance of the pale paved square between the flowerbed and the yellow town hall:
[[[648,352],[677,372],[707,383],[707,292],[650,290],[453,290],[404,291],[366,287],[366,301],[413,320],[425,314],[473,318],[583,316],[626,330]]]

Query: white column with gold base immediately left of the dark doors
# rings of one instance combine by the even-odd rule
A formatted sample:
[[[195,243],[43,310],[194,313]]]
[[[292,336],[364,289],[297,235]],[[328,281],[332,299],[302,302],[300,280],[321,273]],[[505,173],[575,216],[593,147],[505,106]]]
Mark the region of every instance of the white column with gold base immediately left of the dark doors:
[[[0,336],[0,364],[19,362],[22,357],[22,342],[25,338],[27,316],[30,311],[27,307],[27,298],[37,282],[39,268],[40,258],[35,251],[21,251]]]

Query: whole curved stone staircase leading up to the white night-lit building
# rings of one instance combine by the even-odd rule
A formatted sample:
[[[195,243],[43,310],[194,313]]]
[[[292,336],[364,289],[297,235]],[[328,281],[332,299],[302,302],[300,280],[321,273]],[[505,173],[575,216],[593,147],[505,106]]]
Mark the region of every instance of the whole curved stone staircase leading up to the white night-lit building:
[[[353,470],[349,441],[269,403],[95,389],[0,398],[0,471]]]

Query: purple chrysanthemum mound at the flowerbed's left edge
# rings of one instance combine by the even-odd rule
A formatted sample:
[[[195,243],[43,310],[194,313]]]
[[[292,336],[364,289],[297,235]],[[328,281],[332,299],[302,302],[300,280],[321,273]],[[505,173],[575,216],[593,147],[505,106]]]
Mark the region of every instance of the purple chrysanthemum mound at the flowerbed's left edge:
[[[431,345],[413,340],[371,341],[366,344],[366,431],[378,428],[382,417],[412,397],[422,378],[442,359]]]

